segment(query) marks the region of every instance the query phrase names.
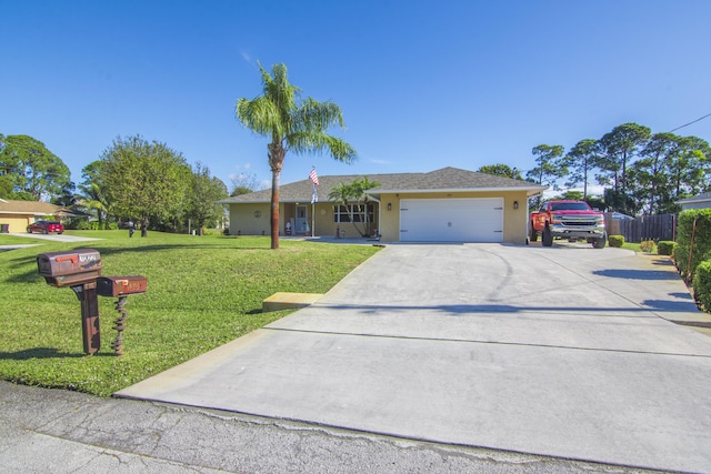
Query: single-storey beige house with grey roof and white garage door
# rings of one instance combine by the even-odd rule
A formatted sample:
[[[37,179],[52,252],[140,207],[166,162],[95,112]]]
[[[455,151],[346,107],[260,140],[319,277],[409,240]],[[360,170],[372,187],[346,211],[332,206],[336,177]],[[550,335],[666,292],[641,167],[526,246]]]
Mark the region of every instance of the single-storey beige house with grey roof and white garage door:
[[[527,242],[528,199],[547,188],[491,174],[442,168],[429,173],[367,174],[379,184],[368,203],[334,205],[339,183],[363,174],[319,177],[280,186],[280,235],[368,236],[384,242]],[[269,235],[271,190],[237,195],[229,205],[230,234]],[[353,225],[354,221],[358,230]],[[343,235],[344,234],[344,235]]]

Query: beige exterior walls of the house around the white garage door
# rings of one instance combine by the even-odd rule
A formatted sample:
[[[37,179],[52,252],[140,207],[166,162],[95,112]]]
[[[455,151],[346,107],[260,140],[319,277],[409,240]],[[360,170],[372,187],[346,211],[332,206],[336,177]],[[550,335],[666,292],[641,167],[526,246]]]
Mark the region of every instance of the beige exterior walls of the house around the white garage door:
[[[383,242],[398,242],[400,240],[400,200],[401,199],[455,199],[455,198],[503,198],[503,242],[523,245],[527,239],[528,213],[527,213],[527,192],[525,191],[508,191],[508,192],[460,192],[460,193],[408,193],[408,194],[382,194],[380,195],[380,204],[377,202],[374,212],[373,228],[378,229]],[[518,202],[518,209],[513,209],[513,203]],[[390,204],[390,210],[388,210]],[[309,232],[311,235],[311,223],[314,222],[314,235],[317,236],[334,236],[337,226],[346,233],[346,238],[358,238],[358,231],[353,224],[333,222],[333,203],[318,202],[314,206],[311,203],[304,203],[307,206],[307,216]],[[311,219],[312,210],[316,211],[314,220]],[[259,211],[259,218],[254,216],[254,212]],[[280,235],[284,235],[284,225],[290,219],[296,220],[297,204],[280,203]],[[232,235],[269,235],[269,214],[270,205],[268,203],[240,203],[230,204],[230,234]],[[360,228],[360,223],[359,223]],[[299,233],[296,233],[299,234]]]

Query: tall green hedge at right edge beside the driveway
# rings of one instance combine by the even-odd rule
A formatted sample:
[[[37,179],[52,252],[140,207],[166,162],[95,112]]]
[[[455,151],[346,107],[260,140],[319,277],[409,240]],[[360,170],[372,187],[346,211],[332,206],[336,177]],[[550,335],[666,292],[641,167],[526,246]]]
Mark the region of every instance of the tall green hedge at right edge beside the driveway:
[[[701,262],[711,259],[711,209],[690,209],[679,214],[673,256],[679,273],[687,281],[692,281]]]

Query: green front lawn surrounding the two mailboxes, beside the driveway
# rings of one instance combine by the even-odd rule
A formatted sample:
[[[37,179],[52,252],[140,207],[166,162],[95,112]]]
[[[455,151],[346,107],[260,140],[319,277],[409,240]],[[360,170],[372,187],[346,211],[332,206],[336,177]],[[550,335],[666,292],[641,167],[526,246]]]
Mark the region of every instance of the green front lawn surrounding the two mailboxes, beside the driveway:
[[[324,293],[378,251],[287,240],[272,251],[269,236],[67,234],[106,240],[62,244],[0,236],[0,245],[42,244],[0,252],[0,379],[100,396],[283,317],[288,311],[261,313],[262,300],[278,291]],[[114,299],[99,299],[101,350],[87,356],[74,292],[49,286],[37,273],[39,253],[79,248],[101,253],[104,275],[148,279],[147,293],[128,297],[123,356],[111,350]]]

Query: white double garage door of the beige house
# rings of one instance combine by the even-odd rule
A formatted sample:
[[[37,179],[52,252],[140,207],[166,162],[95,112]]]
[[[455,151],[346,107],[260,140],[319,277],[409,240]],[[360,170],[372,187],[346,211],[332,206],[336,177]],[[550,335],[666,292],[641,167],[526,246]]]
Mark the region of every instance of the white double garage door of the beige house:
[[[503,198],[403,199],[401,242],[503,242]]]

